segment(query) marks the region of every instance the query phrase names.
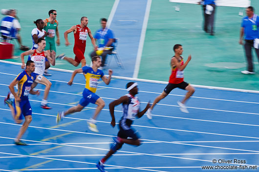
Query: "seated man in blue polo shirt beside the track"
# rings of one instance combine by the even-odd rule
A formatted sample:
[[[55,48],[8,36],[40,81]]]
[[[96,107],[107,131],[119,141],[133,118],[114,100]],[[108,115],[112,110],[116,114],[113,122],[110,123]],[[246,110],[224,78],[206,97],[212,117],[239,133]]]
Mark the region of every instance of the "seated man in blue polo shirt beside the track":
[[[106,27],[107,19],[102,18],[101,19],[101,26],[102,28],[97,30],[94,34],[95,42],[98,39],[98,50],[97,53],[96,51],[93,51],[90,54],[90,57],[94,56],[101,56],[102,57],[102,64],[101,67],[104,67],[105,65],[105,60],[106,56],[111,54],[112,49],[113,49],[113,42],[114,42],[114,35],[112,30],[110,30],[108,27]],[[102,54],[99,54],[99,53]]]

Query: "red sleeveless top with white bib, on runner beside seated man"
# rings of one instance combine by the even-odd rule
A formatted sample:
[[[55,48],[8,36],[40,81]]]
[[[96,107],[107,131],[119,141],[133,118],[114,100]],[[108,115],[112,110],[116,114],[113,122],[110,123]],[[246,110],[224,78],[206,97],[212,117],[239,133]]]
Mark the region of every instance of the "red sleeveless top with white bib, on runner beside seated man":
[[[76,33],[74,34],[75,37],[75,47],[82,47],[86,48],[86,38],[88,37],[88,27],[81,28],[80,24],[76,25]]]

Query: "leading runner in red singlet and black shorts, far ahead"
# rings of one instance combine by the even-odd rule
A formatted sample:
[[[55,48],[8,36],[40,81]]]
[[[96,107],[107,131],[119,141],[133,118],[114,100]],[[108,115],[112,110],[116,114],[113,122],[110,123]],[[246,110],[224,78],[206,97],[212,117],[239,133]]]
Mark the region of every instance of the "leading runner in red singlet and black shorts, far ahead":
[[[185,102],[190,96],[194,94],[195,90],[191,85],[184,81],[183,70],[185,69],[189,61],[192,59],[192,57],[191,55],[189,55],[187,61],[185,63],[183,62],[183,57],[181,57],[181,55],[183,54],[183,47],[180,44],[174,45],[173,51],[175,52],[175,55],[171,59],[172,73],[169,78],[169,83],[162,92],[162,94],[155,98],[152,106],[147,111],[147,116],[149,119],[152,119],[151,111],[153,110],[156,103],[158,103],[161,99],[169,95],[169,93],[175,88],[180,88],[188,91],[184,99],[181,102],[177,101],[177,103],[182,112],[189,113],[189,111],[185,107]]]

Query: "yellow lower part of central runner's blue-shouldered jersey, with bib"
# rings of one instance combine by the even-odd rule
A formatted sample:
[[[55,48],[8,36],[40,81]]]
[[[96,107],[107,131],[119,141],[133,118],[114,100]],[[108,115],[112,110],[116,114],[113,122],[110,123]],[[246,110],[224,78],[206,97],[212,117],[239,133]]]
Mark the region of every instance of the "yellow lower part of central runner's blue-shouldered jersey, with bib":
[[[95,93],[98,85],[98,80],[100,79],[101,75],[87,73],[87,74],[84,74],[84,76],[86,78],[85,88]]]

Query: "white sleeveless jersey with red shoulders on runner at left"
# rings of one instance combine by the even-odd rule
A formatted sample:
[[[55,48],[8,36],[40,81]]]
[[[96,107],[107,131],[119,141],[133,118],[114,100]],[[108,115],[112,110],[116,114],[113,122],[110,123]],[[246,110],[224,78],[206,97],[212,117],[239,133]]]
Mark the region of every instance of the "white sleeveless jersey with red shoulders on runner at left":
[[[31,60],[35,63],[35,71],[34,73],[43,75],[44,70],[45,70],[45,54],[44,52],[42,53],[37,53],[36,50],[34,50],[33,55],[31,56]]]

